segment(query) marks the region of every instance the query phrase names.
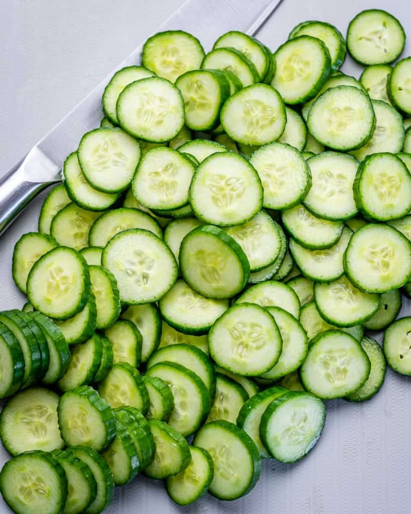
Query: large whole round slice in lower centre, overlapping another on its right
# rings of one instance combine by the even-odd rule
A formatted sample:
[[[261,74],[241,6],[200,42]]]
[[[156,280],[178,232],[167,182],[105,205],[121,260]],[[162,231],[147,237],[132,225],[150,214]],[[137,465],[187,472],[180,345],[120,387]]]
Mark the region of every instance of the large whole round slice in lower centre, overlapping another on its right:
[[[274,318],[266,309],[252,303],[231,307],[209,333],[214,361],[243,376],[261,375],[270,370],[281,354],[282,345]]]

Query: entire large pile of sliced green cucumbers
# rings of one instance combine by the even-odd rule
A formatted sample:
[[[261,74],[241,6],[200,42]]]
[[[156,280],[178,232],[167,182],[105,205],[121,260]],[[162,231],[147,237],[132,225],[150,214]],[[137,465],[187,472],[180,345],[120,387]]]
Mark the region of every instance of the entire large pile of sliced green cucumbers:
[[[274,54],[182,31],[116,72],[13,253],[0,491],[98,514],[138,473],[235,500],[319,439],[323,400],[411,375],[411,57],[381,10]],[[346,49],[365,67],[339,68]],[[364,335],[364,331],[367,335]],[[382,348],[369,332],[385,330]]]

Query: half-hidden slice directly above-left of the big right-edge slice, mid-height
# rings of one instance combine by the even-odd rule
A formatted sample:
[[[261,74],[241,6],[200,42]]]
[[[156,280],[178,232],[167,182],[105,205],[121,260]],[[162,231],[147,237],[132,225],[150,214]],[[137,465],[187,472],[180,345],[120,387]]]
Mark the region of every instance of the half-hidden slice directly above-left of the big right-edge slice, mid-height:
[[[334,246],[344,227],[343,222],[314,216],[302,204],[283,211],[282,221],[291,237],[311,250],[324,250]]]

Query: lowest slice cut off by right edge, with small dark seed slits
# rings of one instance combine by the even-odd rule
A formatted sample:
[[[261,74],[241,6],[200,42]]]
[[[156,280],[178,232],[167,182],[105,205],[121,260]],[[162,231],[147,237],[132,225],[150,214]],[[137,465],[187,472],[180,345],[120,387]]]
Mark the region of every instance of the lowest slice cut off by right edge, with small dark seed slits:
[[[400,318],[385,331],[383,351],[391,369],[411,375],[411,316]]]

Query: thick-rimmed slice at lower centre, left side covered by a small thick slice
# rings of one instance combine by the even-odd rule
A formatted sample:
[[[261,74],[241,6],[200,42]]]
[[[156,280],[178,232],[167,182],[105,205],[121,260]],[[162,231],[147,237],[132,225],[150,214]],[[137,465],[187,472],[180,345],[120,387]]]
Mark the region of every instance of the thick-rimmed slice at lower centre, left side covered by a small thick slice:
[[[161,378],[173,393],[170,427],[184,437],[193,434],[210,411],[210,393],[206,384],[185,366],[169,361],[154,364],[146,375]]]

